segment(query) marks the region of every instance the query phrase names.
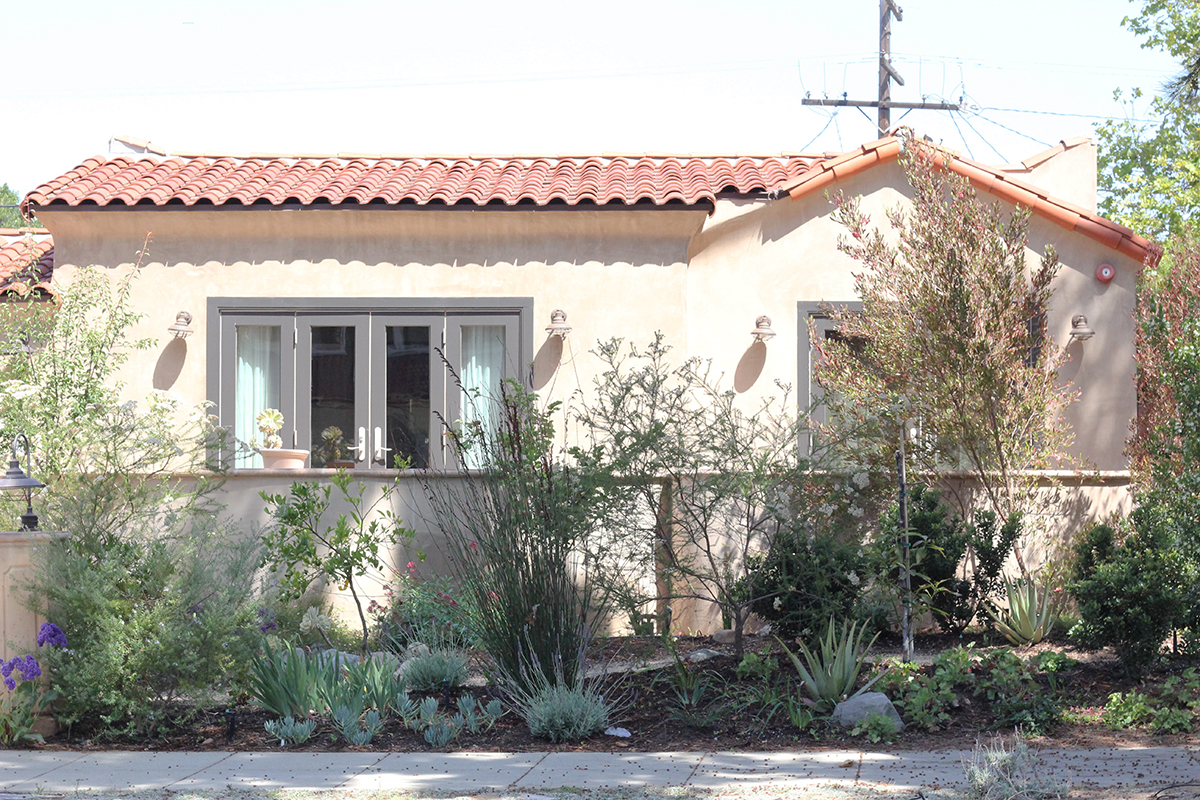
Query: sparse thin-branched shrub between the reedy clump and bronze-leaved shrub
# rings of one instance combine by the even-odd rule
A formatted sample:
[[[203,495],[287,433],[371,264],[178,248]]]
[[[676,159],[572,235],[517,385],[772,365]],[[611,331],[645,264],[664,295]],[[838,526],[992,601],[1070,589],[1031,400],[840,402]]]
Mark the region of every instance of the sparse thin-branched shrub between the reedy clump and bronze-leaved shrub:
[[[848,565],[827,537],[858,533],[860,487],[826,469],[826,444],[799,453],[806,421],[790,408],[787,386],[746,408],[709,362],[672,365],[670,349],[661,335],[644,348],[599,345],[595,399],[577,413],[593,446],[577,458],[611,479],[606,528],[626,531],[612,549],[641,554],[635,575],[659,567],[671,596],[716,604],[740,658],[751,609],[782,616],[786,627],[800,621],[810,589],[802,579],[815,575],[803,559],[815,537],[818,558]],[[812,590],[844,607],[851,575],[821,576]]]

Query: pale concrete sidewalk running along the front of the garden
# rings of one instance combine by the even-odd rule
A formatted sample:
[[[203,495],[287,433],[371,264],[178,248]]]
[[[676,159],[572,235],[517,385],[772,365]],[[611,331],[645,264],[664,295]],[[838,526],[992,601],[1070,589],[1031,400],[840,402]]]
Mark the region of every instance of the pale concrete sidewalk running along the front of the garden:
[[[1044,775],[1111,788],[1200,782],[1200,752],[1184,747],[1036,751]],[[228,753],[0,751],[0,792],[131,792],[234,788],[503,793],[736,786],[962,784],[962,751],[870,753]]]

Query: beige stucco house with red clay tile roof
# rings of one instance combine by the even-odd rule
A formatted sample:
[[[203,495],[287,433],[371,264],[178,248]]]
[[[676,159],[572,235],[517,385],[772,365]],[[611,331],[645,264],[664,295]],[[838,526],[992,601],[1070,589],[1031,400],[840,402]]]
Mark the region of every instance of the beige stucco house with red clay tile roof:
[[[780,379],[806,404],[809,319],[822,302],[854,300],[826,191],[863,196],[877,219],[908,191],[895,137],[840,155],[462,158],[116,142],[125,152],[84,161],[25,204],[53,234],[55,283],[89,264],[139,271],[134,333],[160,347],[128,362],[127,391],[211,401],[241,439],[276,407],[284,446],[312,451],[336,426],[364,475],[385,474],[395,453],[445,464],[438,416],[464,410],[443,347],[470,386],[516,377],[563,399],[592,386],[598,339],[662,331],[738,392],[772,393]],[[1136,413],[1135,282],[1159,249],[1096,213],[1087,139],[1016,164],[948,163],[984,199],[1032,209],[1031,259],[1046,243],[1060,254],[1049,330],[1069,348],[1062,377],[1079,399],[1068,419],[1094,467],[1068,477],[1085,516],[1118,509]],[[546,330],[557,311],[565,337]],[[1088,341],[1069,336],[1078,314],[1096,331]],[[760,317],[776,333],[767,342],[751,336]],[[196,335],[168,333],[176,320]],[[264,470],[254,455],[232,467],[226,491],[246,517],[262,512],[259,489],[302,475]]]

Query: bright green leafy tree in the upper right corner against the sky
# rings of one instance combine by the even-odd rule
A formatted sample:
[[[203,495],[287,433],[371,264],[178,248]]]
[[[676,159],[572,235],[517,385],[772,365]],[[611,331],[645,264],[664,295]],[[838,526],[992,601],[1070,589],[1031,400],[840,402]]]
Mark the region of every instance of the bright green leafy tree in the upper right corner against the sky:
[[[1144,0],[1141,13],[1122,24],[1142,47],[1164,49],[1182,72],[1150,100],[1156,121],[1109,120],[1099,140],[1100,211],[1152,239],[1183,231],[1200,209],[1200,0]],[[1128,95],[1130,118],[1140,89]]]

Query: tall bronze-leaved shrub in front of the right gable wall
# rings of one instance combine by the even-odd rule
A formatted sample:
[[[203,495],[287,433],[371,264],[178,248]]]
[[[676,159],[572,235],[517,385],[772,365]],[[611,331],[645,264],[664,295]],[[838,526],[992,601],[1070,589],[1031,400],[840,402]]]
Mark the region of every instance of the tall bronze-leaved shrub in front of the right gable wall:
[[[829,309],[840,336],[814,337],[816,374],[836,398],[834,429],[857,431],[847,441],[858,463],[890,473],[900,432],[916,421],[911,468],[970,471],[1004,519],[1031,501],[1027,470],[1070,441],[1058,413],[1070,393],[1056,374],[1062,355],[1042,347],[1058,259],[1048,248],[1028,269],[1028,210],[980,201],[965,178],[938,169],[948,158],[906,137],[913,199],[888,211],[896,236],[872,227],[859,199],[836,199],[834,219],[850,234],[839,248],[866,267],[854,285],[863,308]]]

